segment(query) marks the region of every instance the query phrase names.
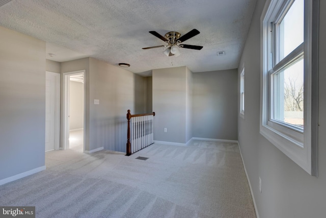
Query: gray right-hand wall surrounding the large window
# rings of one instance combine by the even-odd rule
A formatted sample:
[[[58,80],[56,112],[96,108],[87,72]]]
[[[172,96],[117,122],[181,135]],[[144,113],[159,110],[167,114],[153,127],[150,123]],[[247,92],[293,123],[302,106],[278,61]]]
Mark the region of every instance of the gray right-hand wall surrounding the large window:
[[[310,176],[259,134],[260,118],[260,16],[265,1],[258,0],[239,66],[244,64],[245,119],[238,118],[239,145],[263,218],[325,217],[326,214],[326,1],[320,2],[319,19],[319,177]],[[238,79],[239,79],[238,72]],[[262,192],[258,190],[259,177]]]

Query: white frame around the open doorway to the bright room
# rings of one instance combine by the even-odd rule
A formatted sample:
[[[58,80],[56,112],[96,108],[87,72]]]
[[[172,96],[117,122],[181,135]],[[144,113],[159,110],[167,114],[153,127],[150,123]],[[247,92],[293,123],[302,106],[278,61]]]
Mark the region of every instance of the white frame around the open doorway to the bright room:
[[[70,76],[76,74],[84,74],[84,148],[83,152],[85,152],[85,142],[86,142],[86,70],[77,70],[71,72],[64,72],[62,77],[62,93],[63,93],[63,102],[62,102],[62,150],[69,149],[69,108],[70,108]]]

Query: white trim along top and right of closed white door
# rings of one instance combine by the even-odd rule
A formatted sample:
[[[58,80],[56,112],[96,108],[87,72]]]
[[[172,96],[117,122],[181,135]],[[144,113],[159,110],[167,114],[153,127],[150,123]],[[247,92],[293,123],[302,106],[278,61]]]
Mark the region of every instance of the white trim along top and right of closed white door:
[[[60,80],[58,72],[45,71],[46,74],[55,76],[55,150],[60,149]]]

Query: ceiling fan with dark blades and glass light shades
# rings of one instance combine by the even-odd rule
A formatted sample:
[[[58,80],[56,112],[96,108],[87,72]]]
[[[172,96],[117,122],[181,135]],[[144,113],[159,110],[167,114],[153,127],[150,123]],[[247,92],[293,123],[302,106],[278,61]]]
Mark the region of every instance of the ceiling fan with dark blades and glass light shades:
[[[192,31],[184,34],[181,36],[178,32],[168,32],[165,34],[165,37],[157,33],[156,31],[149,31],[149,33],[153,34],[157,38],[165,41],[166,45],[157,45],[152,47],[143,47],[143,49],[155,49],[156,47],[168,47],[163,53],[167,56],[173,56],[176,57],[180,55],[180,52],[178,50],[178,47],[183,47],[184,49],[195,49],[195,50],[201,50],[203,46],[199,45],[190,45],[190,44],[180,44],[184,42],[185,40],[188,40],[189,38],[192,38],[196,35],[198,35],[200,32],[196,29],[193,29]],[[181,36],[181,37],[180,37]]]

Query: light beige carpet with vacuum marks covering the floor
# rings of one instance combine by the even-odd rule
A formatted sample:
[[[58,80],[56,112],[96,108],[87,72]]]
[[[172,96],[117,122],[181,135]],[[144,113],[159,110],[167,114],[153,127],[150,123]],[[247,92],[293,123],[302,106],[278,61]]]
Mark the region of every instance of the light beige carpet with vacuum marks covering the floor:
[[[36,206],[36,217],[256,217],[236,143],[52,151],[46,166],[0,186],[0,205]]]

